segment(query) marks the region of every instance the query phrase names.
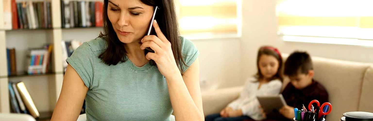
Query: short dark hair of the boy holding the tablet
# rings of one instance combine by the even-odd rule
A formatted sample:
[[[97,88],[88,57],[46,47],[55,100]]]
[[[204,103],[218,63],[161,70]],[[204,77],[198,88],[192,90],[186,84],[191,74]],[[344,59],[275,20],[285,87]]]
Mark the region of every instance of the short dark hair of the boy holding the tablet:
[[[285,61],[284,75],[296,76],[299,73],[308,74],[313,70],[311,56],[307,52],[295,51]]]

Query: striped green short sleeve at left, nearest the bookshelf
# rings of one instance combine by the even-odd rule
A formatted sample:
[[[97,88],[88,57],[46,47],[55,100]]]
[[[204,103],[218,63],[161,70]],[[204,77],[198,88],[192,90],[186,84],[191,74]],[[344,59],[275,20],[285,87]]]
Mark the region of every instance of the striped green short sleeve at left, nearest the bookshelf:
[[[89,43],[84,42],[76,48],[72,55],[66,59],[88,88],[92,85],[93,80],[93,55]]]

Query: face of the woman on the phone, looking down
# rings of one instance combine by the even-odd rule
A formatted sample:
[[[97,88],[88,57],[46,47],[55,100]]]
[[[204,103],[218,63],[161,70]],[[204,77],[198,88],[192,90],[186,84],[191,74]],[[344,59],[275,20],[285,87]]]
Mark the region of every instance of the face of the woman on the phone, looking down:
[[[153,10],[140,0],[109,0],[107,16],[121,42],[140,42],[149,29]]]

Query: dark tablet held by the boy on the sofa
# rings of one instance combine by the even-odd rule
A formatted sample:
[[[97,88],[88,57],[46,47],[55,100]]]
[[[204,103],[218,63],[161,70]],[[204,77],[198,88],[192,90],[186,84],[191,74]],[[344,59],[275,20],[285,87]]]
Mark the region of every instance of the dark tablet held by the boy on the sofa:
[[[257,96],[257,98],[268,118],[277,119],[282,117],[279,109],[286,105],[282,94],[276,96]]]

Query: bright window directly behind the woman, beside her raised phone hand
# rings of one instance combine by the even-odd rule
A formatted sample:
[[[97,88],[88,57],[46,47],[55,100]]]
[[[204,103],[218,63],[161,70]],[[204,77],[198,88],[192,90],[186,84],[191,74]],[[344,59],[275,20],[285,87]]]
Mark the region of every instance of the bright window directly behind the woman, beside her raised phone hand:
[[[241,16],[239,0],[178,0],[182,35],[238,35]]]

